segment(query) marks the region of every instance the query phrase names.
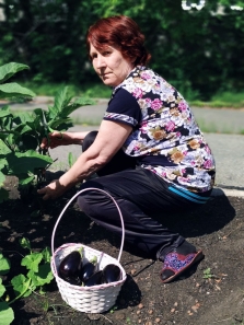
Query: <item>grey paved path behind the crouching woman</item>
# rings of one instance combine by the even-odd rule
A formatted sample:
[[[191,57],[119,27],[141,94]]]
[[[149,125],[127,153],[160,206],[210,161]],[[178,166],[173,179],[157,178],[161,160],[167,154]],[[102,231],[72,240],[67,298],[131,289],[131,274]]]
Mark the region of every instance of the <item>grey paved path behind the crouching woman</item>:
[[[83,106],[71,114],[74,127],[70,130],[83,131],[98,128],[98,124],[106,109],[106,100],[98,101],[97,105]],[[11,109],[47,108],[46,98],[37,98],[28,104],[10,105]],[[217,178],[213,195],[244,197],[244,130],[243,109],[219,109],[193,107],[197,121],[204,125],[205,137],[213,152],[217,165]],[[82,123],[82,125],[81,125]],[[213,130],[209,134],[208,128]],[[50,155],[57,161],[54,170],[69,169],[68,156],[74,159],[81,153],[79,146],[59,147],[50,150]]]

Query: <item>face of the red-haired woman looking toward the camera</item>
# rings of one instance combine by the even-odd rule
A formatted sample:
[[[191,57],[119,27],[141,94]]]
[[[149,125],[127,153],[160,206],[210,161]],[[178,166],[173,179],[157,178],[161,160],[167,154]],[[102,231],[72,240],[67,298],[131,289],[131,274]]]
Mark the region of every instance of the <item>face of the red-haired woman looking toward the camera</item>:
[[[97,50],[91,44],[90,56],[96,73],[104,84],[109,86],[117,86],[133,69],[133,63],[125,59],[121,53],[112,46]]]

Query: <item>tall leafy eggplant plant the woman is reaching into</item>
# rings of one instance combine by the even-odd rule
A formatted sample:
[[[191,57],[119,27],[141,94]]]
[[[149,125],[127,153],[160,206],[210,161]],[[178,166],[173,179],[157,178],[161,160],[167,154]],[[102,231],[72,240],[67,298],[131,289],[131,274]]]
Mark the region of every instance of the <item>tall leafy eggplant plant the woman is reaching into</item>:
[[[15,97],[30,100],[35,94],[15,82],[5,83],[16,72],[28,66],[10,62],[0,67],[0,98]],[[90,105],[89,98],[72,100],[68,88],[61,89],[55,96],[54,105],[47,109],[35,108],[33,112],[11,113],[9,105],[0,111],[0,202],[8,199],[3,188],[7,176],[19,178],[20,189],[28,189],[45,177],[45,170],[53,159],[48,150],[40,148],[42,139],[55,130],[63,131],[72,126],[69,115],[77,108]],[[45,179],[45,178],[44,178]]]

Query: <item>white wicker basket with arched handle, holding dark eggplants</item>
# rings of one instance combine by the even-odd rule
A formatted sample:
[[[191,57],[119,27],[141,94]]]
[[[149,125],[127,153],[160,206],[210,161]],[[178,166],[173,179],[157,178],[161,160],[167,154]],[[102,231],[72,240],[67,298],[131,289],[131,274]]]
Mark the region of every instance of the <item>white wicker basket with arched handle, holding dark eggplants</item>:
[[[98,190],[102,191],[104,194],[106,194],[115,204],[119,217],[120,217],[120,221],[121,221],[121,229],[123,229],[123,233],[121,233],[121,244],[120,244],[120,249],[119,249],[119,254],[118,254],[118,258],[113,258],[112,256],[93,249],[89,246],[85,246],[83,244],[75,244],[75,243],[68,243],[68,244],[63,244],[62,246],[60,246],[59,248],[57,248],[54,252],[54,240],[55,240],[55,233],[56,233],[56,229],[58,227],[58,223],[62,217],[62,214],[65,213],[66,209],[68,208],[68,206],[72,202],[72,200],[80,195],[82,191],[85,190]],[[73,309],[75,309],[77,311],[80,312],[85,312],[85,313],[103,313],[107,310],[109,310],[116,302],[116,299],[118,297],[118,293],[121,289],[123,283],[126,280],[126,271],[124,270],[124,268],[121,267],[121,265],[119,264],[120,260],[120,256],[123,253],[123,246],[124,246],[124,240],[125,240],[125,227],[124,227],[124,220],[123,220],[123,216],[121,216],[121,211],[117,205],[117,202],[115,201],[115,199],[105,190],[103,189],[98,189],[98,188],[85,188],[82,189],[80,191],[78,191],[70,200],[69,202],[66,205],[66,207],[63,208],[63,210],[61,211],[54,231],[53,231],[53,235],[51,235],[51,253],[53,253],[53,257],[51,257],[51,271],[55,276],[56,282],[58,285],[58,289],[59,292],[62,297],[62,299]],[[93,286],[93,287],[79,287],[79,286],[73,286],[70,285],[69,282],[62,280],[59,276],[58,276],[58,267],[61,263],[61,260],[63,259],[65,256],[67,256],[70,252],[78,249],[79,247],[83,247],[83,255],[84,258],[86,259],[91,259],[94,256],[97,256],[97,260],[98,260],[98,265],[100,265],[100,269],[103,269],[107,264],[115,264],[120,268],[120,274],[121,277],[118,281],[116,282],[111,282],[111,283],[104,283],[104,285],[100,285],[100,286]]]

